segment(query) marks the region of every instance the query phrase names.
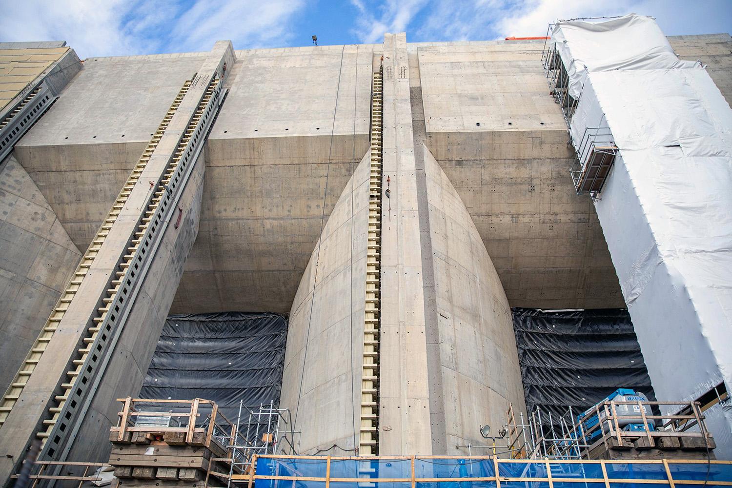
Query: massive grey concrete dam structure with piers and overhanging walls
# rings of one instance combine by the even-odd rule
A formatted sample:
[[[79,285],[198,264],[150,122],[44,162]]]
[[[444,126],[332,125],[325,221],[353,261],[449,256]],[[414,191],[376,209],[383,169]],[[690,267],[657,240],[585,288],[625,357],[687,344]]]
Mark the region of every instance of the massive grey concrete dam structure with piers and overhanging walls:
[[[728,34],[670,40],[732,100]],[[452,454],[504,424],[524,408],[510,306],[624,306],[542,48],[387,34],[51,61],[31,88],[71,75],[0,163],[0,475],[37,432],[49,457],[105,458],[168,312],[291,313],[303,452]],[[94,387],[56,440],[77,378]]]

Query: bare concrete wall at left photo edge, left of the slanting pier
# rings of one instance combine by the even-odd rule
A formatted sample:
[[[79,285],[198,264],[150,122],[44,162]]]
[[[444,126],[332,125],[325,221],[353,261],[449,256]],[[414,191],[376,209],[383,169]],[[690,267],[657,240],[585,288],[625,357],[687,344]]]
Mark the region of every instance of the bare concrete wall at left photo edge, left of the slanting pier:
[[[81,252],[12,155],[0,166],[0,390],[18,372]]]

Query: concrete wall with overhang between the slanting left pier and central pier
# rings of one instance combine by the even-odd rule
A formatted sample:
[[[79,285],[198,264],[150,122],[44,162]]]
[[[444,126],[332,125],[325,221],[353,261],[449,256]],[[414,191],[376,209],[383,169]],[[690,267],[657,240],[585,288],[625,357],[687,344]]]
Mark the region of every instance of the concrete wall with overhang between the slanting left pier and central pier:
[[[367,150],[373,46],[238,52],[208,142],[201,238],[173,312],[290,309]]]

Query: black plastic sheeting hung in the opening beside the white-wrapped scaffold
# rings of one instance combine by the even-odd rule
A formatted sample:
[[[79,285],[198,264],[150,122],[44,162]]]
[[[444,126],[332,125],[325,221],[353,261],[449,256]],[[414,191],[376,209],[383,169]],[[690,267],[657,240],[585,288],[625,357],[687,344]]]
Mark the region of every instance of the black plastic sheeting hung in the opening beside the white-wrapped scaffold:
[[[655,399],[627,310],[512,312],[529,412],[580,413],[617,388]]]

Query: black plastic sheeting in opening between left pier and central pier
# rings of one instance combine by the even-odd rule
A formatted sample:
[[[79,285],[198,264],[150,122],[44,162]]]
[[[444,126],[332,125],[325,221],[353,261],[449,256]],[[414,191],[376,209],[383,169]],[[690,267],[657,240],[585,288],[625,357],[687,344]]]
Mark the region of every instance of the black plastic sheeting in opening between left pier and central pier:
[[[143,383],[142,398],[205,398],[234,421],[239,401],[277,406],[287,318],[272,313],[171,315]]]

